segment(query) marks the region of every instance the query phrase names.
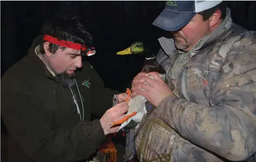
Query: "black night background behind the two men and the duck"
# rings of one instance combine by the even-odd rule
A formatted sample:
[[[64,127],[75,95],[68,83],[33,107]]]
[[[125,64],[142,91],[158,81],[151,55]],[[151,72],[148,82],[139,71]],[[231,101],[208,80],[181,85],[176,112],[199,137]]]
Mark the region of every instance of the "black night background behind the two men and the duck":
[[[255,1],[225,3],[231,9],[234,23],[256,30]],[[116,52],[135,41],[149,44],[153,53],[159,50],[157,38],[166,32],[151,23],[163,10],[163,4],[164,1],[1,1],[1,77],[28,53],[46,20],[56,13],[76,11],[92,34],[97,50],[89,61],[106,87],[124,91],[127,82],[141,70],[144,57],[119,56]],[[4,132],[2,125],[1,135]],[[1,150],[4,148],[1,146]]]

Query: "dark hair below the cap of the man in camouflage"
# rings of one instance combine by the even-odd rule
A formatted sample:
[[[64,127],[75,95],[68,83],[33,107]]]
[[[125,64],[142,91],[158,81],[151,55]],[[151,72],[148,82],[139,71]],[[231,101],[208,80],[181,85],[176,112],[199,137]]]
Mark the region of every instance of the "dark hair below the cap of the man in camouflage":
[[[217,11],[217,10],[220,10],[220,12],[221,12],[220,18],[221,18],[221,19],[225,19],[225,17],[226,17],[226,6],[225,6],[225,4],[224,4],[223,2],[221,2],[220,4],[214,6],[214,7],[211,8],[211,9],[198,12],[198,14],[200,14],[201,16],[203,16],[203,19],[204,19],[204,20],[207,20],[207,19],[209,19],[209,18],[213,15],[213,13],[214,13],[215,11]]]

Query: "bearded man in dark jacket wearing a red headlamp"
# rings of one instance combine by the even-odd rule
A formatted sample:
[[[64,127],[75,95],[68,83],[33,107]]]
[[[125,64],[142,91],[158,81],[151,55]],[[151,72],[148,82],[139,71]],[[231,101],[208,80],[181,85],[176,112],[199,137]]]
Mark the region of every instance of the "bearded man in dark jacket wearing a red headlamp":
[[[104,88],[95,69],[82,62],[96,51],[76,18],[52,18],[42,32],[1,80],[9,161],[88,159],[105,135],[118,130],[110,125],[125,116],[127,96],[117,95],[112,107],[119,92]],[[92,114],[102,118],[90,121]]]

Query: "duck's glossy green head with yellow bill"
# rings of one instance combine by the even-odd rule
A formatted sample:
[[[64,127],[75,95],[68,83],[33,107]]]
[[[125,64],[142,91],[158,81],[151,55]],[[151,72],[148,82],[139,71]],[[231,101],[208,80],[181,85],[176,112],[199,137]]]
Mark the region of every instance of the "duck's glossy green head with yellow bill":
[[[125,54],[140,54],[145,51],[143,43],[142,42],[136,42],[133,43],[130,47],[126,48],[123,51],[117,52],[119,55],[125,55]]]

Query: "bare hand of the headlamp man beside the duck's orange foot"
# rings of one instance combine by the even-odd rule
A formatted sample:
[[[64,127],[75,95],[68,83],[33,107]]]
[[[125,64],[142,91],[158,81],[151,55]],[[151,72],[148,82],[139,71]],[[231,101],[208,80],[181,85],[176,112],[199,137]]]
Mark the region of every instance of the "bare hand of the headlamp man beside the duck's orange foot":
[[[126,111],[128,111],[127,102],[122,102],[118,103],[105,112],[105,114],[99,120],[100,124],[102,124],[105,135],[114,133],[119,129],[120,126],[111,128],[111,124],[113,121],[119,121],[120,119],[124,118],[124,113]]]

